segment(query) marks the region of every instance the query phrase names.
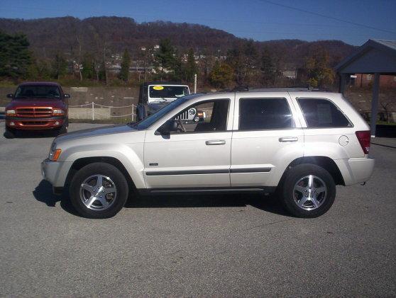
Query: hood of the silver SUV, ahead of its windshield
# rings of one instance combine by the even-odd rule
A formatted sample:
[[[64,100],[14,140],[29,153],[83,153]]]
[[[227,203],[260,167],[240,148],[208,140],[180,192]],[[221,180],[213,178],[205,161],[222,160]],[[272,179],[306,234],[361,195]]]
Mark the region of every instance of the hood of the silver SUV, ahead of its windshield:
[[[74,139],[82,139],[87,137],[97,137],[103,134],[118,134],[122,132],[134,132],[137,131],[135,128],[128,125],[111,125],[104,127],[94,127],[88,130],[77,130],[77,132],[68,132],[67,134],[61,134],[55,139],[55,142],[67,142]]]

